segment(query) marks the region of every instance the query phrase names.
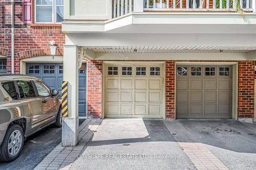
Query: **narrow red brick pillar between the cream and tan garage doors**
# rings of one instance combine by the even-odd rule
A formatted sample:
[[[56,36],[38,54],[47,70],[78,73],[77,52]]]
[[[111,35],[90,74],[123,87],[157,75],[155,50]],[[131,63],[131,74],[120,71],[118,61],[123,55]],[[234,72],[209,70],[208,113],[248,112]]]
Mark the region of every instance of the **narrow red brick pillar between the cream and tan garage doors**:
[[[165,115],[175,118],[175,61],[165,64]]]

